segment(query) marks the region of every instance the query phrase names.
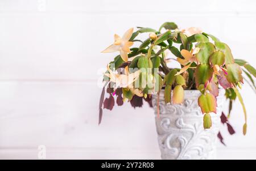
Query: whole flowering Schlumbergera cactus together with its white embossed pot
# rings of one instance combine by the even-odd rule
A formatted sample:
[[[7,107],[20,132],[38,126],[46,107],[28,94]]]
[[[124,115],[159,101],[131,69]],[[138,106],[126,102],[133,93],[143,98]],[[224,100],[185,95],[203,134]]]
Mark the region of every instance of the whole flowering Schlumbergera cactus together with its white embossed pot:
[[[148,38],[138,40],[141,33],[149,33]],[[134,42],[139,46],[132,48]],[[180,68],[167,66],[166,51]],[[232,102],[238,99],[246,134],[246,109],[239,89],[249,78],[255,91],[256,70],[246,61],[234,59],[229,46],[213,35],[199,28],[180,30],[175,23],[166,22],[158,31],[138,27],[122,37],[114,35],[114,44],[102,52],[119,54],[104,74],[99,124],[102,107],[112,110],[114,97],[117,105],[129,101],[134,108],[142,106],[144,99],[155,109],[162,159],[214,159],[217,136],[222,141],[220,122],[234,133],[222,113],[222,102],[229,100],[230,114]],[[109,97],[104,100],[105,89]]]

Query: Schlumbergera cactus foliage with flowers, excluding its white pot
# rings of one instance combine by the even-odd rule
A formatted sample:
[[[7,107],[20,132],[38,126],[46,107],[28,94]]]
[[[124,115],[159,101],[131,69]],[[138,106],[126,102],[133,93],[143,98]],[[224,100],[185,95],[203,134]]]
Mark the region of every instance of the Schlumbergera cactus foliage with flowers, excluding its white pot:
[[[146,40],[136,39],[139,34],[146,32],[149,33]],[[139,47],[131,48],[134,42]],[[173,54],[172,59],[179,62],[180,69],[167,67],[170,59],[166,58],[166,51]],[[216,113],[216,97],[222,87],[229,100],[228,116],[233,101],[237,98],[241,102],[245,117],[243,134],[246,134],[246,109],[239,89],[243,80],[246,80],[256,90],[256,70],[246,61],[234,59],[229,46],[213,35],[193,27],[180,30],[175,23],[166,22],[158,31],[138,27],[135,32],[133,28],[129,29],[122,37],[114,35],[114,44],[103,51],[110,52],[119,52],[119,55],[108,64],[104,74],[109,97],[104,100],[104,87],[100,99],[99,123],[102,119],[102,106],[112,110],[114,96],[117,105],[128,100],[135,108],[142,106],[143,99],[152,105],[151,95],[155,93],[159,97],[161,89],[164,89],[166,104],[181,104],[185,89],[197,89],[201,92],[198,105],[204,115],[204,128],[209,129],[212,125],[209,113]],[[230,134],[233,134],[234,130],[227,118],[222,113],[222,123],[226,123]],[[218,136],[222,139],[220,134]]]

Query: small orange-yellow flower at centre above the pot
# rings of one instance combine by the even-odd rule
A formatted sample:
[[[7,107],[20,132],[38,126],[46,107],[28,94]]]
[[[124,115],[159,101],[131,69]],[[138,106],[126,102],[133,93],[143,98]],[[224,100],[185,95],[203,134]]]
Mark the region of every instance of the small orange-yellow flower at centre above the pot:
[[[189,52],[188,50],[182,49],[180,53],[185,59],[177,58],[177,62],[179,62],[181,65],[184,65],[184,67],[180,69],[180,71],[177,72],[177,74],[175,75],[179,75],[185,72],[191,66],[192,62],[197,62],[196,54],[199,53],[199,51],[200,51],[200,48],[191,49],[191,52]]]

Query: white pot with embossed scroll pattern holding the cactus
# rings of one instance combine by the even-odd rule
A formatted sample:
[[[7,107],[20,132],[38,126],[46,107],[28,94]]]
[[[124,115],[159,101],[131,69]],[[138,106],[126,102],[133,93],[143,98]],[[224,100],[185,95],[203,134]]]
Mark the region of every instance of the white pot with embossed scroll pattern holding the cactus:
[[[216,159],[217,134],[224,101],[224,89],[217,97],[217,114],[211,113],[212,127],[204,129],[203,114],[197,104],[201,93],[185,90],[183,104],[165,104],[164,91],[159,96],[157,117],[157,95],[152,95],[155,109],[156,131],[162,159]]]

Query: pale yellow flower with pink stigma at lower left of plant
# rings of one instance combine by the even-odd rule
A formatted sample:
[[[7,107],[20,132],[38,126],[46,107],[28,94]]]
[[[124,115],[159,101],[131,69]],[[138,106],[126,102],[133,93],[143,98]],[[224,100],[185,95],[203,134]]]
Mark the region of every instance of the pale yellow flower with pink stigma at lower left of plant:
[[[135,95],[142,97],[143,94],[138,88],[134,88],[133,82],[139,78],[140,70],[129,73],[128,66],[125,67],[125,74],[116,74],[107,66],[109,73],[105,73],[110,78],[110,82],[115,83],[115,87],[129,88]]]

